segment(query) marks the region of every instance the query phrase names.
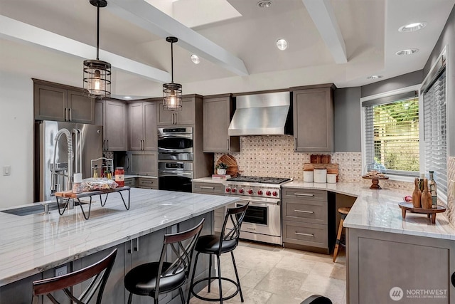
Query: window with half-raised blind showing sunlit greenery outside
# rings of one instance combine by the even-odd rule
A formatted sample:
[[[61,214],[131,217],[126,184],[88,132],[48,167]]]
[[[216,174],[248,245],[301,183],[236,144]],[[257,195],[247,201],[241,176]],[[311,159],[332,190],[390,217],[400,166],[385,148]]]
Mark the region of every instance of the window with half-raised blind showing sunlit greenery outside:
[[[362,103],[365,164],[378,162],[387,174],[419,175],[419,96],[417,91]]]

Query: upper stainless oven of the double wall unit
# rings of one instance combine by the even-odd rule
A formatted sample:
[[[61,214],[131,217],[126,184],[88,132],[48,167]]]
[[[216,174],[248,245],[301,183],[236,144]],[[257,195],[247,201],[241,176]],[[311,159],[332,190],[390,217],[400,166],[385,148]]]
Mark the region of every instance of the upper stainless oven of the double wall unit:
[[[158,129],[159,160],[193,160],[193,127]]]

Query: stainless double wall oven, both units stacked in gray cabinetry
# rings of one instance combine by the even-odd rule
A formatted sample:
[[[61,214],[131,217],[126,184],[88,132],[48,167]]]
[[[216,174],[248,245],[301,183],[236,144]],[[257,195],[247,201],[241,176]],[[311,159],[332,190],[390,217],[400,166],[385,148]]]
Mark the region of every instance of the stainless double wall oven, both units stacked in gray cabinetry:
[[[193,179],[193,127],[158,129],[160,190],[191,192]]]

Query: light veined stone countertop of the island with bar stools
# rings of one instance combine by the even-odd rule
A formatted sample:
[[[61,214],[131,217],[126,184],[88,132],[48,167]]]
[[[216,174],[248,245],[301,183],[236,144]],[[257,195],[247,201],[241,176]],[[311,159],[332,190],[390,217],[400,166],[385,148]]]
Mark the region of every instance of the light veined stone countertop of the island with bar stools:
[[[127,197],[127,192],[122,194]],[[117,193],[109,194],[104,207],[100,206],[99,197],[93,196],[97,202],[92,204],[88,220],[83,218],[80,206],[65,211],[63,216],[58,210],[28,216],[0,212],[0,286],[238,200],[231,196],[132,188],[127,210]]]

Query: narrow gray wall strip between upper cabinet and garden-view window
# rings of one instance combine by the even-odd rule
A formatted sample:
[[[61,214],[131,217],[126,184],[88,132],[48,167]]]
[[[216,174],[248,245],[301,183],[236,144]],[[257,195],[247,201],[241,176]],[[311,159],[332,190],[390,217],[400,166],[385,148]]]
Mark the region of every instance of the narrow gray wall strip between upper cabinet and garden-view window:
[[[335,90],[335,151],[360,152],[360,87]]]

